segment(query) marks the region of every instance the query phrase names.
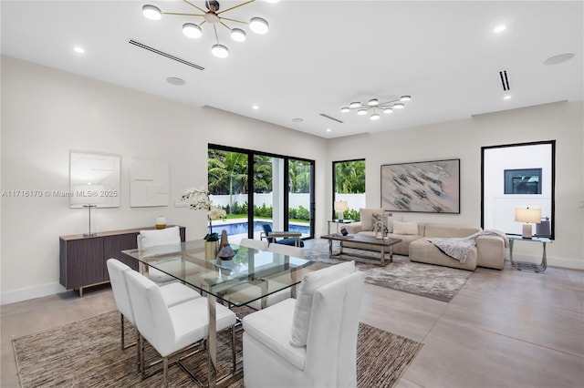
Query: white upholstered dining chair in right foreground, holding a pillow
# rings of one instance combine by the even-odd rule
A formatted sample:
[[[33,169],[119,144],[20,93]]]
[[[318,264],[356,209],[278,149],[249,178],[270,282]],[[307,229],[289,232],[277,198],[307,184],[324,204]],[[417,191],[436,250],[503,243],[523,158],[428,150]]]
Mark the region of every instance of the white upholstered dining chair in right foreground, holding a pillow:
[[[356,387],[363,283],[348,261],[308,273],[297,300],[247,315],[245,387]]]

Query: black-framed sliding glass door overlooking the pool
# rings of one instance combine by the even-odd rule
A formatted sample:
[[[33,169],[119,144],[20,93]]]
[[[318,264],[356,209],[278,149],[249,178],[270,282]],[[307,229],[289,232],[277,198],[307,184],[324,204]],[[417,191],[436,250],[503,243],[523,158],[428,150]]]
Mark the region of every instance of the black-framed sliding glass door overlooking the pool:
[[[209,145],[208,179],[214,205],[227,212],[214,231],[230,242],[259,240],[264,224],[314,238],[314,160]]]

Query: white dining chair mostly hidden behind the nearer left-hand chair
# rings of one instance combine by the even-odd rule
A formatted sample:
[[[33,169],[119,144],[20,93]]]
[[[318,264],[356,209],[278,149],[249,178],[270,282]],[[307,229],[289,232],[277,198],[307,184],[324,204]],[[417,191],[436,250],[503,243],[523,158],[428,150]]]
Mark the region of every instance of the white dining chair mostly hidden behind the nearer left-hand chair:
[[[123,273],[125,271],[133,270],[120,260],[113,258],[106,261],[106,264],[108,266],[108,273],[110,274],[110,284],[111,291],[113,292],[113,299],[116,302],[118,311],[120,311],[121,350],[125,350],[128,347],[135,345],[135,343],[131,343],[130,345],[126,346],[124,318],[126,318],[132,325],[135,326],[136,324],[134,320],[134,314],[131,310],[128,284],[126,283],[126,278],[124,277]],[[191,301],[193,299],[201,298],[201,294],[199,294],[199,292],[194,291],[190,287],[178,282],[168,283],[162,286],[161,294],[162,299],[167,306],[174,306],[176,304],[183,303],[183,301]],[[138,347],[138,352],[140,352],[140,347]]]

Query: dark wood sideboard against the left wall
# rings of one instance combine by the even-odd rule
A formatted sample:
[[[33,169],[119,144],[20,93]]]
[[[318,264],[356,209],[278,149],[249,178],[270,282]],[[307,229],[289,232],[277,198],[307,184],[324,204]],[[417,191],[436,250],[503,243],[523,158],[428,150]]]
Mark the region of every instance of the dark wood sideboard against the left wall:
[[[111,230],[97,233],[96,236],[83,237],[82,234],[60,236],[59,240],[59,282],[67,290],[78,290],[83,296],[83,289],[110,281],[106,261],[116,258],[138,270],[138,261],[125,257],[120,250],[138,248],[137,237],[140,230],[155,228],[137,228],[129,230]],[[181,240],[185,240],[186,229],[181,229]]]

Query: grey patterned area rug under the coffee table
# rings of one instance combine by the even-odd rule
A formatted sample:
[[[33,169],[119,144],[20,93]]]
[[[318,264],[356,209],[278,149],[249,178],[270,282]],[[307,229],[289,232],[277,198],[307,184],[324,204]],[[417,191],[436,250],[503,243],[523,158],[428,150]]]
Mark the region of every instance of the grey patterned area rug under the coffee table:
[[[336,249],[336,250],[335,250]],[[333,251],[337,251],[335,245]],[[344,259],[350,259],[349,248],[343,252]],[[366,254],[367,250],[355,250]],[[370,252],[371,257],[379,256],[379,252]],[[344,260],[328,257],[328,241],[316,242],[308,248],[305,258],[313,261],[337,264]],[[458,270],[439,265],[413,262],[407,256],[393,255],[393,262],[385,267],[380,266],[379,259],[358,258],[355,261],[357,269],[365,272],[365,281],[370,284],[389,288],[391,290],[409,292],[438,301],[451,301],[464,283],[472,275],[472,271]]]

